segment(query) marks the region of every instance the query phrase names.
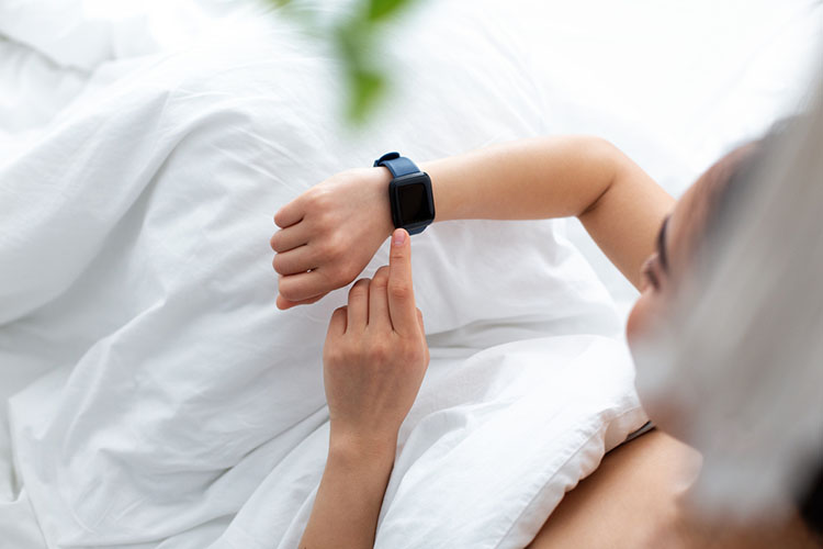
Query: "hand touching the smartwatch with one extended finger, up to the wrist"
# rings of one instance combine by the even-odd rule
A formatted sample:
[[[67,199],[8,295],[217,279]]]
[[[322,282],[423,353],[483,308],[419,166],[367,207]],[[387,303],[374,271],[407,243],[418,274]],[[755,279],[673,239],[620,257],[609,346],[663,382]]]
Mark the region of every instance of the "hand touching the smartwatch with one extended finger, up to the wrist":
[[[392,236],[388,267],[358,280],[335,311],[323,351],[331,447],[390,451],[429,363],[412,287],[408,233]]]

